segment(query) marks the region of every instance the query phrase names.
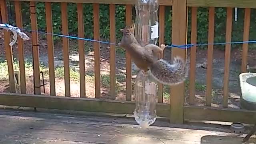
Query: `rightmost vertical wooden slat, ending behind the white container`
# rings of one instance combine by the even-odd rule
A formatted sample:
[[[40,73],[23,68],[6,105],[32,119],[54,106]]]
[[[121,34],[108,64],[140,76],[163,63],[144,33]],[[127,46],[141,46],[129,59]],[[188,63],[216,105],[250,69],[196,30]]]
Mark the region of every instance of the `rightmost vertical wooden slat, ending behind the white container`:
[[[243,41],[249,40],[249,32],[250,32],[250,8],[245,8],[244,13],[244,36]],[[248,56],[248,43],[243,43],[243,52],[242,52],[242,66],[241,72],[246,72],[246,65],[247,65],[247,56]]]

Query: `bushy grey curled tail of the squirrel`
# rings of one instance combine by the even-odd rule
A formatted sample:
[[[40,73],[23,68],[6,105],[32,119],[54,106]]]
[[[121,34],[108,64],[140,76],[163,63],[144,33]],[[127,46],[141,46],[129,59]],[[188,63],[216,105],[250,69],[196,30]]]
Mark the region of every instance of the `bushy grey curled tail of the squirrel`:
[[[150,72],[156,81],[167,85],[179,84],[187,77],[186,64],[180,57],[172,62],[160,59],[150,66]]]

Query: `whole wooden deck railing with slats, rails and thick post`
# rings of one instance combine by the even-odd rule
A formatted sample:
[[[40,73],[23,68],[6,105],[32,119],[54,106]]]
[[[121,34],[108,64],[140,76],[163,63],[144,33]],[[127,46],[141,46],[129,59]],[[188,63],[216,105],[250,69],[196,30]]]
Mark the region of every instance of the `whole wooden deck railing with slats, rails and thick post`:
[[[37,31],[37,18],[35,2],[45,2],[46,8],[46,27],[47,32],[52,33],[52,8],[51,2],[61,2],[61,20],[62,20],[62,34],[68,35],[68,14],[67,3],[77,3],[78,14],[78,36],[84,37],[84,22],[83,22],[83,3],[93,3],[93,22],[94,22],[94,39],[100,39],[99,26],[99,4],[110,4],[110,42],[116,42],[116,20],[115,20],[115,4],[126,5],[126,24],[131,24],[132,21],[132,4],[134,0],[16,0],[15,13],[16,25],[22,28],[22,16],[20,1],[30,1],[30,16],[31,29]],[[0,0],[2,22],[8,23],[6,1]],[[187,12],[188,7],[192,7],[192,30],[191,43],[197,42],[197,7],[209,7],[209,26],[208,26],[208,42],[214,42],[214,7],[227,7],[226,19],[226,42],[231,41],[232,33],[232,8],[246,8],[244,19],[244,41],[249,38],[250,28],[250,8],[256,8],[256,1],[253,0],[160,0],[159,12],[159,44],[164,43],[164,8],[165,6],[172,6],[172,44],[182,45],[186,44],[187,40]],[[67,110],[85,110],[95,112],[112,112],[132,114],[134,110],[134,102],[132,98],[132,69],[131,57],[126,54],[126,101],[118,102],[114,100],[100,100],[100,44],[94,42],[94,59],[95,59],[95,98],[88,99],[85,90],[85,56],[84,56],[84,41],[78,40],[79,51],[79,68],[80,68],[80,97],[70,98],[70,66],[69,66],[69,46],[68,38],[62,38],[63,41],[63,58],[64,58],[64,83],[65,96],[55,96],[55,74],[54,74],[54,43],[53,36],[47,35],[48,43],[48,61],[49,61],[49,75],[50,75],[50,95],[41,95],[40,92],[40,63],[38,50],[38,33],[32,32],[32,49],[33,49],[33,69],[34,69],[34,94],[26,94],[26,77],[24,66],[24,48],[23,42],[18,39],[18,54],[20,64],[20,79],[21,79],[21,93],[17,94],[15,80],[12,47],[9,46],[10,34],[4,30],[4,46],[6,50],[6,59],[8,62],[8,73],[10,82],[10,92],[0,94],[0,104],[11,106],[28,106],[38,108],[55,108]],[[184,90],[185,85],[179,84],[171,87],[170,106],[162,104],[163,101],[163,86],[159,86],[158,91],[158,116],[170,117],[172,123],[182,123],[184,120],[213,120],[213,121],[227,121],[227,122],[244,122],[254,123],[256,113],[248,110],[234,110],[228,109],[228,80],[230,67],[230,49],[231,45],[226,44],[225,47],[225,70],[224,70],[224,93],[223,93],[223,107],[213,108],[212,104],[212,60],[213,60],[213,45],[208,46],[207,54],[207,78],[206,78],[206,106],[193,106],[195,98],[195,75],[196,75],[196,46],[190,49],[190,85],[189,85],[189,103],[190,106],[184,106]],[[246,71],[248,44],[242,46],[242,72]],[[115,98],[115,46],[110,46],[110,94]],[[181,56],[186,58],[186,50],[173,48],[172,56]],[[161,56],[162,57],[162,56]]]

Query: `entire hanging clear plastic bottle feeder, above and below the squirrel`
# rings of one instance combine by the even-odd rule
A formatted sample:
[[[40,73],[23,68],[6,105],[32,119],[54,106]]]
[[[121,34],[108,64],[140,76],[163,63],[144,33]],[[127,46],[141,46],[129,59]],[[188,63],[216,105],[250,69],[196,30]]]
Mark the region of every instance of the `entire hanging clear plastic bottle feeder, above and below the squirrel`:
[[[158,0],[138,0],[136,3],[137,41],[145,46],[156,44],[158,39]],[[134,118],[141,128],[156,121],[157,83],[148,72],[141,70],[135,79]]]

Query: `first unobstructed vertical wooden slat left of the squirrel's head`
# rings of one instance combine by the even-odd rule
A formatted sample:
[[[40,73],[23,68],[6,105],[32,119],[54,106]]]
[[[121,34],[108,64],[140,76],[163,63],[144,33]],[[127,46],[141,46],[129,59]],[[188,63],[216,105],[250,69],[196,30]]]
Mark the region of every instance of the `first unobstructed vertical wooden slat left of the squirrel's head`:
[[[110,42],[116,43],[116,5],[109,5],[110,15]],[[116,46],[110,45],[110,94],[112,99],[116,99]]]

